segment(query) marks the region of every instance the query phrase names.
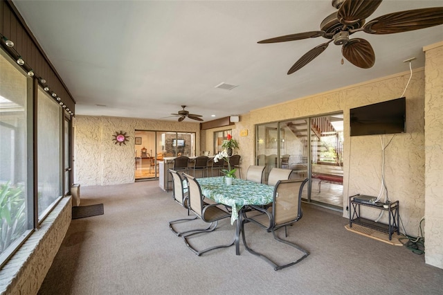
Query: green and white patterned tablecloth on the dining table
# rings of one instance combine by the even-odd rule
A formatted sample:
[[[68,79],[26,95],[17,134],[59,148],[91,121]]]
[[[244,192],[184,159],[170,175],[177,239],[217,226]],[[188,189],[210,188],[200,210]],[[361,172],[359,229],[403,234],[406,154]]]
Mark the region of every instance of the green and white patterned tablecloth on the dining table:
[[[224,177],[204,177],[198,178],[197,181],[202,195],[232,208],[230,224],[234,224],[238,219],[242,206],[265,205],[272,202],[273,186],[244,179],[234,179],[233,185],[228,186],[223,179]]]

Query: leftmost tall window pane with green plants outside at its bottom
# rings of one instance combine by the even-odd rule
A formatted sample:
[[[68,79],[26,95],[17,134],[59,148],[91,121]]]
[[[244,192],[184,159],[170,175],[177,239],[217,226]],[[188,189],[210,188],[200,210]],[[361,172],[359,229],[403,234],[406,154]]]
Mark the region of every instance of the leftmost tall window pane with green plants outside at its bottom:
[[[30,79],[0,51],[0,262],[28,230],[27,98]]]

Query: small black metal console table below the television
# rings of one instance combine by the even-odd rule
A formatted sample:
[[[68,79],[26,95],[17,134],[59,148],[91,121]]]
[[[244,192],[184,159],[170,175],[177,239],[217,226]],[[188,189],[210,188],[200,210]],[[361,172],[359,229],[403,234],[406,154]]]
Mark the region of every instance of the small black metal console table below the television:
[[[360,195],[353,195],[349,197],[349,226],[352,227],[352,224],[359,224],[361,226],[369,227],[370,229],[375,229],[377,231],[382,231],[383,233],[389,234],[389,240],[392,238],[392,233],[397,231],[397,234],[400,233],[399,229],[399,202],[389,202],[388,204],[384,204],[381,202],[361,202],[356,201],[354,198],[359,197]],[[357,198],[358,199],[358,198]],[[368,220],[366,218],[361,217],[360,215],[360,206],[368,206],[370,208],[377,208],[379,210],[388,212],[388,224],[382,224],[380,222],[374,222],[372,220]]]

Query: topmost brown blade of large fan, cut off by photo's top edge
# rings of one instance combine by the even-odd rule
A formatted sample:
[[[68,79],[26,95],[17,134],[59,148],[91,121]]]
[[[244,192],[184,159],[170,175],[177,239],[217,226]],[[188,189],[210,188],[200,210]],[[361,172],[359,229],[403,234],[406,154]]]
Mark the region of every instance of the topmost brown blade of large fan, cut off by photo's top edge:
[[[380,3],[381,0],[346,0],[338,8],[338,21],[345,25],[356,24],[372,15]]]

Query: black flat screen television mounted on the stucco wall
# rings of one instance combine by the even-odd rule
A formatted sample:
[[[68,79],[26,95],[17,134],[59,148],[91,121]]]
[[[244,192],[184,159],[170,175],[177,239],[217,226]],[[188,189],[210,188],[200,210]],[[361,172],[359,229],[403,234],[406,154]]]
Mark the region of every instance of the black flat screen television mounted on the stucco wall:
[[[406,98],[350,109],[350,136],[406,132]]]

